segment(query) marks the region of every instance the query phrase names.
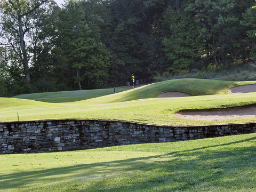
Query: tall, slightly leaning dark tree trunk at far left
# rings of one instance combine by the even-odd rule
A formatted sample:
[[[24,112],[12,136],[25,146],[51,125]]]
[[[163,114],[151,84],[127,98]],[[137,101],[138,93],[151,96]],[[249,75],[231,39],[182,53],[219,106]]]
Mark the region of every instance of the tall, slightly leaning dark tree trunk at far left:
[[[27,51],[26,51],[25,42],[24,42],[21,19],[22,18],[19,15],[18,16],[18,22],[19,22],[20,47],[21,47],[22,56],[23,56],[23,68],[24,68],[24,71],[25,71],[26,81],[29,84],[30,83],[30,75],[29,75],[29,68],[28,68],[28,57],[27,57]]]

